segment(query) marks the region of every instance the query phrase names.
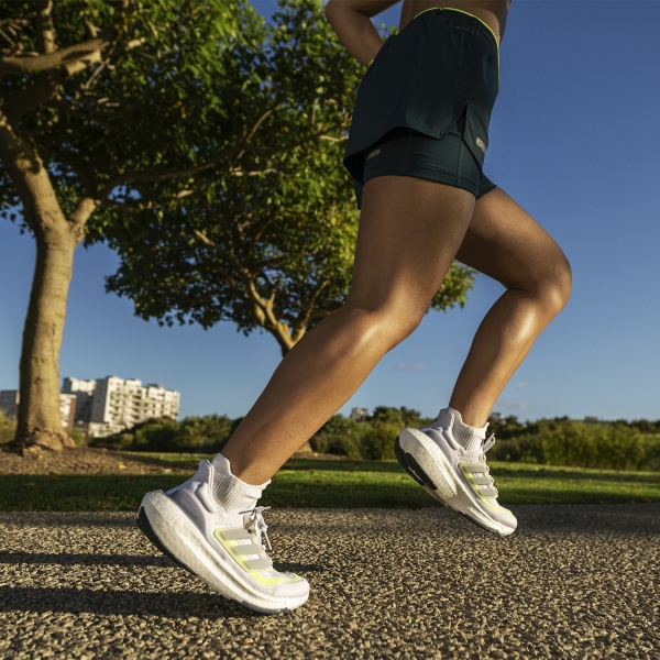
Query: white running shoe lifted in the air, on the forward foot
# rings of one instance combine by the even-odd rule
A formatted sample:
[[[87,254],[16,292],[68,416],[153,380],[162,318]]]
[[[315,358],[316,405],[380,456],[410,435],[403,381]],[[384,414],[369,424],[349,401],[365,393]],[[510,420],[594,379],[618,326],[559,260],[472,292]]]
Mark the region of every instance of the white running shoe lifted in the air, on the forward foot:
[[[486,465],[485,453],[495,444],[495,437],[468,452],[453,437],[455,421],[452,411],[443,408],[431,426],[404,429],[395,442],[396,458],[417,483],[452,512],[488,531],[508,536],[518,521],[497,504],[497,488]]]

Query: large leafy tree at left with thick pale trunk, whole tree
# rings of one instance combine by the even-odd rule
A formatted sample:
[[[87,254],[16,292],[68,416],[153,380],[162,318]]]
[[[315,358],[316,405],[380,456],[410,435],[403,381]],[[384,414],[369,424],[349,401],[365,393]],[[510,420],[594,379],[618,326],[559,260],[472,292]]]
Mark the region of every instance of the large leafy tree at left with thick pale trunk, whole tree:
[[[243,0],[0,4],[0,215],[15,220],[20,205],[36,242],[19,446],[73,444],[59,422],[58,356],[76,246],[251,154],[270,110],[228,113],[217,90],[227,51],[242,44],[256,57],[263,33]],[[283,136],[271,153],[293,143]]]

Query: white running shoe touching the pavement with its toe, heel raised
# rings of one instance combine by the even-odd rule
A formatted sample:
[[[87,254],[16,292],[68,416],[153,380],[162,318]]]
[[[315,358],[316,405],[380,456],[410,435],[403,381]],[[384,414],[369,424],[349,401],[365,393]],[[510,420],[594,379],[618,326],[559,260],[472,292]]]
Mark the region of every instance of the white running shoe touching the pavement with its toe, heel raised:
[[[147,493],[138,526],[165,554],[227,598],[264,614],[299,607],[309,597],[309,583],[294,573],[279,573],[262,546],[271,541],[262,512],[227,513],[213,497],[213,466],[200,461],[186,483]]]

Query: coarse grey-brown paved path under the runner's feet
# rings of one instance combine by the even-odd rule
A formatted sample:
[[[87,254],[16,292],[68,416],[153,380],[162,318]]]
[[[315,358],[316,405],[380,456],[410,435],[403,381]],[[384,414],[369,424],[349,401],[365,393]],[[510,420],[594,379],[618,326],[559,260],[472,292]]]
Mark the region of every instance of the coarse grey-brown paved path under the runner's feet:
[[[0,658],[660,659],[660,505],[519,506],[492,537],[440,508],[267,512],[310,601],[256,615],[131,514],[0,514]]]

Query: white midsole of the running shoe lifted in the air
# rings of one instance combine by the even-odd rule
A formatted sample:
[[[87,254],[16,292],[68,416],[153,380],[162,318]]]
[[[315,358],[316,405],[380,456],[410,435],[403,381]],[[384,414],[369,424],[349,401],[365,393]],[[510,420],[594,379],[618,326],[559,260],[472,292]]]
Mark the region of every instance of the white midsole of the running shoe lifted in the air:
[[[459,469],[450,463],[444,452],[424,431],[404,429],[398,439],[400,448],[417,461],[437,486],[437,491],[425,486],[436,499],[479,520],[502,536],[514,531],[515,528],[510,529],[488,515],[486,507],[474,495],[470,484],[464,481],[464,477],[461,479],[462,475],[458,473]]]

